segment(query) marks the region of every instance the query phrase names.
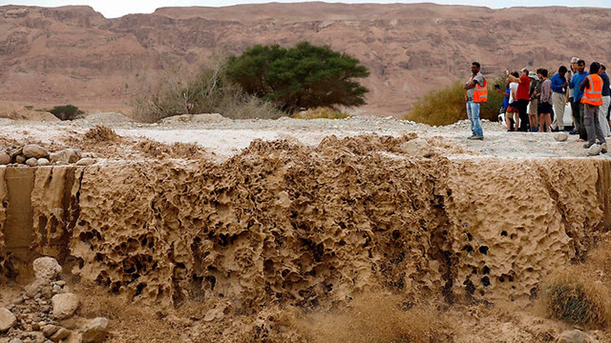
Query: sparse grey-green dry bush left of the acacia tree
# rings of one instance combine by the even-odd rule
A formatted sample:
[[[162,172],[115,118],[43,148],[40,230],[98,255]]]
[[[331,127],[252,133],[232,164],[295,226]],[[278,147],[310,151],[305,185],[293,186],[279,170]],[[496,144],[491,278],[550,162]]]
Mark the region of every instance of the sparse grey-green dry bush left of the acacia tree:
[[[192,76],[181,66],[164,68],[157,81],[146,82],[136,97],[134,117],[155,122],[180,114],[218,113],[224,117],[278,118],[273,105],[243,92],[227,79],[224,63],[213,62]]]

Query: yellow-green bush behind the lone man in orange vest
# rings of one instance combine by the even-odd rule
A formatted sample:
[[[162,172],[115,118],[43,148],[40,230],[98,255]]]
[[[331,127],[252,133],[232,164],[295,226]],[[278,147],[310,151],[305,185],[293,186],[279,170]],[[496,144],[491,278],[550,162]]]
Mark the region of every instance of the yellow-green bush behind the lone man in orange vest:
[[[488,101],[481,104],[480,118],[497,121],[499,109],[503,103],[503,95],[494,90],[494,84],[499,84],[505,90],[505,79],[499,77],[488,81]],[[420,98],[414,108],[404,119],[425,123],[428,125],[450,125],[467,118],[465,105],[464,83],[456,81],[440,90],[431,90]]]

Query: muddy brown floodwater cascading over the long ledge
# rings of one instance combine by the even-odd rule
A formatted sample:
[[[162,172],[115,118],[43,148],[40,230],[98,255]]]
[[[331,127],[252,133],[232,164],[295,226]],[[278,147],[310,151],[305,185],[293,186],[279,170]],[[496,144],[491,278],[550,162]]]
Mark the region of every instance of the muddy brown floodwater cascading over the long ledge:
[[[134,300],[238,312],[378,286],[519,300],[609,228],[609,161],[415,159],[400,148],[411,138],[255,141],[221,164],[0,168],[0,271],[51,255]]]

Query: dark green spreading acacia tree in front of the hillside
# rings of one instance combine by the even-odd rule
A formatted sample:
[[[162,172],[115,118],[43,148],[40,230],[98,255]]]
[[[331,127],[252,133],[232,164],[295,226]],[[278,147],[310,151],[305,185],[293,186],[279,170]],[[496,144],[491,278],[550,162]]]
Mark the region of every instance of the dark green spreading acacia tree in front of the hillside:
[[[364,105],[369,90],[355,79],[367,76],[367,67],[354,57],[309,42],[288,49],[255,45],[227,61],[229,79],[289,114],[301,108]]]

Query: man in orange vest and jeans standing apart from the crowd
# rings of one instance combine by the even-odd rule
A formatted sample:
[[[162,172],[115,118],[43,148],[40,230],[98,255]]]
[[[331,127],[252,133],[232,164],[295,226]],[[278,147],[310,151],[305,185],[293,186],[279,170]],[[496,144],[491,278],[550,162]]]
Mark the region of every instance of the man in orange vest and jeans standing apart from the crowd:
[[[483,140],[484,132],[481,130],[480,104],[488,100],[488,84],[480,73],[479,62],[471,63],[473,76],[465,82],[464,89],[467,90],[465,100],[467,101],[467,117],[471,122],[471,137],[468,139]]]

